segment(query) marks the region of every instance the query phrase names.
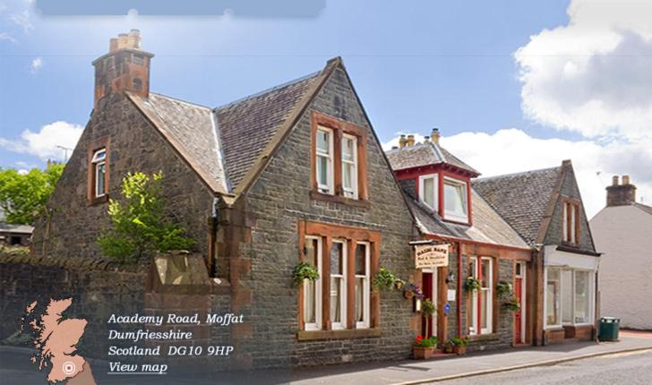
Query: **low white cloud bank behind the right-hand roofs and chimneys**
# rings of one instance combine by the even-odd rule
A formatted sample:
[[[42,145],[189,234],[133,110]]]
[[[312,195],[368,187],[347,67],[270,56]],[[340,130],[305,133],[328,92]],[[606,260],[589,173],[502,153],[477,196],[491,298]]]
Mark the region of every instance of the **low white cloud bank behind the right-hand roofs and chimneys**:
[[[394,138],[383,145],[388,149]],[[510,174],[556,167],[571,159],[587,215],[591,218],[605,207],[605,187],[612,175],[631,175],[637,196],[652,202],[652,140],[637,143],[600,144],[595,141],[537,139],[517,129],[496,133],[458,133],[442,137],[442,147],[450,150],[482,176]],[[395,145],[395,144],[394,144]],[[600,175],[596,175],[596,173]]]

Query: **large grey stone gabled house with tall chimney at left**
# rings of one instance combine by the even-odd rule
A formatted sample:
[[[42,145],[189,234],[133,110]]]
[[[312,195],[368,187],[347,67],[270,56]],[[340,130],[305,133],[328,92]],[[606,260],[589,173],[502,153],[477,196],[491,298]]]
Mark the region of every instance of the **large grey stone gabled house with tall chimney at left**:
[[[381,266],[414,272],[414,217],[341,59],[204,107],[150,92],[154,56],[140,44],[133,30],[93,62],[90,121],[36,226],[34,252],[101,257],[107,201],[124,175],[162,171],[167,215],[197,241],[228,307],[244,314],[234,367],[407,358],[418,317],[371,280]],[[299,261],[320,278],[294,287]]]

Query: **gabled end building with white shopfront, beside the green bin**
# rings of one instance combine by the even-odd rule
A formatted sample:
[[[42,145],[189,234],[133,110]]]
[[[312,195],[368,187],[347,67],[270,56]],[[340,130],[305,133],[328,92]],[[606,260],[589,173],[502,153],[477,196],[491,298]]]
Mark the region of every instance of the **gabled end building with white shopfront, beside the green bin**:
[[[528,285],[532,342],[596,337],[596,252],[570,160],[561,167],[476,179],[473,188],[535,249]]]

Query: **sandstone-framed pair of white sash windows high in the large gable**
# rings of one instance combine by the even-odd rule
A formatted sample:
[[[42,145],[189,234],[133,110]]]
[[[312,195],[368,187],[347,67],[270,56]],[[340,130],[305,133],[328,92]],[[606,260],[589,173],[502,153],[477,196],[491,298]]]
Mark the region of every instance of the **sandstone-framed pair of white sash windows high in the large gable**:
[[[311,198],[369,207],[364,127],[313,112]]]

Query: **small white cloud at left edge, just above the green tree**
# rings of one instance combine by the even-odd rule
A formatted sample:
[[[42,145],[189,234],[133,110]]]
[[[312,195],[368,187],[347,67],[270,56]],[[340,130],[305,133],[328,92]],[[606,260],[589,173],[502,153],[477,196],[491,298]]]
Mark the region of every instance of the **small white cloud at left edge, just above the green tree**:
[[[41,160],[63,160],[65,150],[60,147],[73,149],[82,131],[81,125],[59,121],[44,125],[38,133],[25,130],[21,133],[20,139],[0,138],[0,147],[13,152],[30,154]],[[67,151],[67,155],[71,155],[70,150]]]

